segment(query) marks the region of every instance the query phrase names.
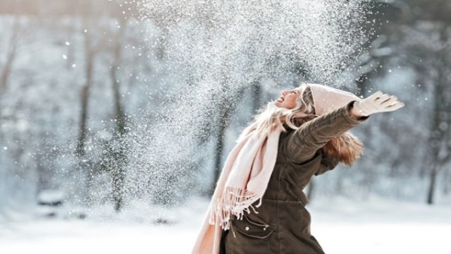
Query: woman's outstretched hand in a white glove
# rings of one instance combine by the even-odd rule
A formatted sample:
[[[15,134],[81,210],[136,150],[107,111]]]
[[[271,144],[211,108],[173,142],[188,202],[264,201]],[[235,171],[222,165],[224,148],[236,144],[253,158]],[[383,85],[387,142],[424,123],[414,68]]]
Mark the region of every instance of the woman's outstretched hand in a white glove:
[[[377,91],[365,99],[354,102],[350,113],[353,116],[369,116],[378,112],[395,111],[402,107],[404,107],[404,103],[398,101],[395,95]]]

